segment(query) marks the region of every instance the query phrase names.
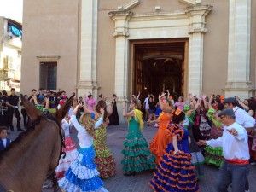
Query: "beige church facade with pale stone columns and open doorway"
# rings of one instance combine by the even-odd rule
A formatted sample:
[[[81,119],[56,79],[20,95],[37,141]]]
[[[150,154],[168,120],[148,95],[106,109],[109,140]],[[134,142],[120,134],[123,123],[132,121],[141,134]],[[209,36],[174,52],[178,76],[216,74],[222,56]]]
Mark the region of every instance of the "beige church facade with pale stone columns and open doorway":
[[[253,96],[255,0],[24,0],[21,91]]]

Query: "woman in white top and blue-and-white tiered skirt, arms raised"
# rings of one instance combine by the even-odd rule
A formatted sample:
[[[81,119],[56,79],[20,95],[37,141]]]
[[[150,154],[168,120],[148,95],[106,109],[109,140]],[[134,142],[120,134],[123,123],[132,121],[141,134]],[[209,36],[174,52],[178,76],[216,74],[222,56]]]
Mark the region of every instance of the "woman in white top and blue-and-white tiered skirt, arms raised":
[[[99,172],[96,170],[94,163],[95,151],[93,148],[93,137],[95,129],[102,125],[104,109],[101,108],[102,116],[95,123],[90,117],[90,113],[84,113],[80,117],[80,124],[76,119],[76,113],[82,108],[79,104],[73,111],[71,123],[78,131],[79,138],[79,155],[70,165],[65,177],[58,181],[61,189],[67,192],[108,192],[103,187]]]

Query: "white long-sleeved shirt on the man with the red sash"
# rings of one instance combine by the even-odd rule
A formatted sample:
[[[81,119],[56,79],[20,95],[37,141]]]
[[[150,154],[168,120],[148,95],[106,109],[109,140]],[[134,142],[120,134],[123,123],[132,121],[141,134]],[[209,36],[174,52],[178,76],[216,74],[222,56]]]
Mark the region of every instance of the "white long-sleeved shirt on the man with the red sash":
[[[230,134],[228,130],[236,129],[237,136]],[[248,136],[247,131],[238,123],[224,126],[222,137],[207,141],[207,145],[212,148],[222,147],[224,159],[226,160],[249,160]]]

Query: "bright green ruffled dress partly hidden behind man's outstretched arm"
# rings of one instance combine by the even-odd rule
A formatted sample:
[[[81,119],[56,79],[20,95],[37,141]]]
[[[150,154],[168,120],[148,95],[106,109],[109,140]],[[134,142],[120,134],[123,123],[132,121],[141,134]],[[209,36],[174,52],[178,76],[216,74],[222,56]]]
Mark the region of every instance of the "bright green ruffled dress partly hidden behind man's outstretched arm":
[[[207,112],[208,119],[212,121],[211,138],[216,139],[222,136],[221,123],[214,117],[215,110],[210,108]],[[224,163],[223,151],[221,147],[212,148],[207,145],[205,150],[205,163],[220,167]]]

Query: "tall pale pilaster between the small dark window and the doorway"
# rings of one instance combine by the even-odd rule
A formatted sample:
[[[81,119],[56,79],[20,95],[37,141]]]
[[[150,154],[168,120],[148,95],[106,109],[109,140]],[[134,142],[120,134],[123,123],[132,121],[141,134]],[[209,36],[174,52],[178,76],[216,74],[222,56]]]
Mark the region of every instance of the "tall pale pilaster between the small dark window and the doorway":
[[[78,67],[78,95],[91,92],[97,96],[96,46],[97,46],[97,0],[80,2],[80,44]]]

